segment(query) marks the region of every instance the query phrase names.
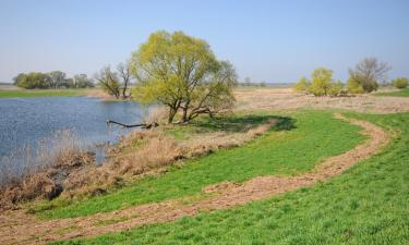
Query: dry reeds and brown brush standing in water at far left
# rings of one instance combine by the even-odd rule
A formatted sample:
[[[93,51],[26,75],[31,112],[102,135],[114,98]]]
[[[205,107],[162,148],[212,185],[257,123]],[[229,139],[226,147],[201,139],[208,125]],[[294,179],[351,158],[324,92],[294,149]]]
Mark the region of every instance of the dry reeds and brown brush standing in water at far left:
[[[0,159],[0,210],[37,197],[51,199],[62,192],[62,180],[73,168],[94,162],[69,130],[36,145],[26,145]]]

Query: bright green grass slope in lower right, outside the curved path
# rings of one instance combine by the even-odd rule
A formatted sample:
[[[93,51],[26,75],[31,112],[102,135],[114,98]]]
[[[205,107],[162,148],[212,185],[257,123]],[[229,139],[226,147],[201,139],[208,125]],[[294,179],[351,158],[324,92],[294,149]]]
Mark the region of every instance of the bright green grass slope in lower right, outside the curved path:
[[[58,244],[409,244],[409,113],[350,115],[401,134],[382,154],[311,188]]]

